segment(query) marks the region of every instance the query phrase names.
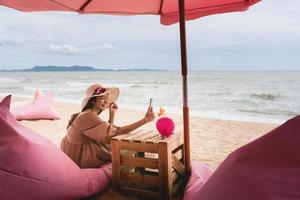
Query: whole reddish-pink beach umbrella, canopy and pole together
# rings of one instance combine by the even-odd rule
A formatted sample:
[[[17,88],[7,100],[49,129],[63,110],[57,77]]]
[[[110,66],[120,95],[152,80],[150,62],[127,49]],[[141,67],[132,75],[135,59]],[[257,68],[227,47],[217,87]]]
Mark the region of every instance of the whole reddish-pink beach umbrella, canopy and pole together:
[[[0,5],[20,11],[73,11],[80,14],[160,15],[160,22],[170,25],[179,22],[181,72],[183,82],[184,162],[190,171],[189,107],[187,97],[187,56],[185,20],[245,11],[260,0],[0,0]]]

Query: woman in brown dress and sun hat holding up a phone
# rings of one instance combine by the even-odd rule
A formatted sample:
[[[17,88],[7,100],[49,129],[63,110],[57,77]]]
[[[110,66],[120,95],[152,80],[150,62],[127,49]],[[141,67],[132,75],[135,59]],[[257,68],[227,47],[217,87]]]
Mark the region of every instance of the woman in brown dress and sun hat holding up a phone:
[[[112,137],[127,134],[154,120],[152,107],[149,107],[141,120],[127,126],[115,126],[114,117],[118,109],[115,100],[118,97],[118,88],[104,88],[100,84],[93,84],[86,90],[81,112],[71,116],[61,149],[79,167],[97,168],[110,162]],[[107,108],[109,120],[105,122],[98,115]]]

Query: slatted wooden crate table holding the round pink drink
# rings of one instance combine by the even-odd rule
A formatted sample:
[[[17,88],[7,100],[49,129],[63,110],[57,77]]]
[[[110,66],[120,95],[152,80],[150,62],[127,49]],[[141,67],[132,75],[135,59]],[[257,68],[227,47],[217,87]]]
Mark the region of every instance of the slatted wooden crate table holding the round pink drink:
[[[112,139],[112,182],[122,193],[171,199],[184,175],[183,137],[139,130]]]

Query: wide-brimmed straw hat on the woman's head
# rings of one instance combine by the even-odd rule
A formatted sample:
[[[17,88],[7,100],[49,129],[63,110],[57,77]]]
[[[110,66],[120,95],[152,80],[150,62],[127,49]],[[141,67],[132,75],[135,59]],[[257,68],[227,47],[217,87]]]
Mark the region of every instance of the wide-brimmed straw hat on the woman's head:
[[[87,88],[85,92],[85,98],[82,100],[81,107],[83,109],[92,97],[108,95],[107,105],[105,106],[106,109],[114,101],[117,100],[119,94],[120,94],[119,88],[106,88],[100,84],[92,84]]]

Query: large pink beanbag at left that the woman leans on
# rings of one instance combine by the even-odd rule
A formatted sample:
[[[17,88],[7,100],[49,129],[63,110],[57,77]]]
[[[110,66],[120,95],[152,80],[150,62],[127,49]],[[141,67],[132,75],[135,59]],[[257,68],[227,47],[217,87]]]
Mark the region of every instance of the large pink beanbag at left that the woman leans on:
[[[0,103],[1,200],[82,199],[109,185],[110,164],[80,169],[49,140],[19,124],[9,112],[10,99]]]

